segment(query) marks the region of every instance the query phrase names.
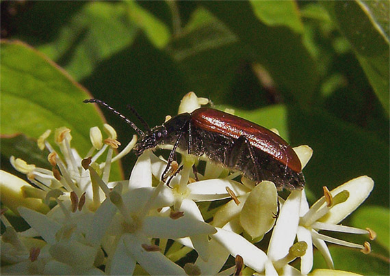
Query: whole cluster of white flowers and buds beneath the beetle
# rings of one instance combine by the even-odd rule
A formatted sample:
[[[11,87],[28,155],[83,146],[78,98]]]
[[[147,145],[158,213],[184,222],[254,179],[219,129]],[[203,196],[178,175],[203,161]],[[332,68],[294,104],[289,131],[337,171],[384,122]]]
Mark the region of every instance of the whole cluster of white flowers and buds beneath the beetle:
[[[191,112],[205,103],[190,93],[180,111]],[[198,159],[186,154],[183,169],[168,187],[161,181],[166,160],[146,150],[129,180],[109,182],[112,163],[130,152],[136,137],[114,156],[120,146],[116,132],[107,124],[104,130],[103,140],[99,128],[90,129],[92,148],[84,158],[71,148],[68,128],[55,131],[60,151],[47,141],[50,131],[44,133],[38,146],[49,150],[51,170],[12,157],[14,168],[32,185],[0,171],[3,205],[31,226],[16,232],[5,209],[1,211],[3,274],[239,275],[245,269],[259,275],[307,275],[313,266],[313,245],[328,268],[333,268],[333,260],[326,243],[369,253],[369,243],[357,245],[320,233],[374,238],[371,230],[339,225],[372,191],[374,182],[367,176],[333,191],[325,187],[324,196],[309,208],[304,190],[282,199],[274,183],[255,184],[246,178],[239,182],[239,173],[230,174],[209,161],[199,174],[193,170]],[[306,165],[311,149],[294,150]],[[268,232],[268,249],[263,251],[255,244]],[[192,260],[188,253],[193,250],[197,257]],[[229,256],[235,265],[227,265]],[[183,258],[187,264],[179,266]],[[300,268],[291,265],[297,258]]]

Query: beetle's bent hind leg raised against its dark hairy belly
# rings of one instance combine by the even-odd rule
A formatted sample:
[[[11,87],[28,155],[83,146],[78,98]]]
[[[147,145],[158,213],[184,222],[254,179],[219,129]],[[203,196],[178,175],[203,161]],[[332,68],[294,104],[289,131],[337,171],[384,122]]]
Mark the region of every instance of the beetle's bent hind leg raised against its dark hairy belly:
[[[248,151],[247,151],[248,150]],[[253,174],[255,174],[255,179],[260,179],[260,173],[259,168],[257,167],[257,156],[255,154],[255,150],[253,150],[252,145],[250,144],[250,141],[245,135],[241,135],[238,137],[238,139],[234,142],[233,147],[231,148],[230,156],[228,157],[228,165],[229,167],[236,167],[237,165],[239,167],[242,167],[242,164],[239,163],[247,163],[248,161],[245,160],[245,156],[249,152],[250,161],[252,161],[253,166]],[[246,165],[244,165],[246,167]]]

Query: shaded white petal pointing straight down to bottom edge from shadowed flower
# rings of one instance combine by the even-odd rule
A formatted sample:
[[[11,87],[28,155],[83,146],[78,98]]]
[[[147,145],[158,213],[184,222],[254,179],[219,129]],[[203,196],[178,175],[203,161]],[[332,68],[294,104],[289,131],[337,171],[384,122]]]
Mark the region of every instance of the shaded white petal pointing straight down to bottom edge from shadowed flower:
[[[107,275],[133,275],[137,262],[128,253],[123,239],[124,236],[121,236],[113,256],[109,256],[109,261],[105,267]]]

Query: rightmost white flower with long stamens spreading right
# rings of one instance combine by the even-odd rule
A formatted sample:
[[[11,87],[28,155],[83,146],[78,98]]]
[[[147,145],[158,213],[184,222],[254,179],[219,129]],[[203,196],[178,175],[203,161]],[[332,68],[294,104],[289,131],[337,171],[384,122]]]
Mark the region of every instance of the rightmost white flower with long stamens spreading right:
[[[365,201],[373,188],[374,181],[371,178],[367,176],[354,178],[330,192],[324,189],[325,195],[317,200],[310,209],[306,196],[302,193],[298,240],[305,241],[309,247],[306,251],[307,253],[302,256],[302,273],[309,273],[313,266],[312,244],[320,250],[326,260],[326,264],[330,268],[333,268],[333,260],[326,246],[326,242],[359,248],[363,252],[369,253],[369,243],[367,242],[365,245],[357,245],[320,234],[319,231],[327,230],[351,234],[369,234],[370,238],[373,239],[375,234],[371,230],[361,230],[338,224]]]

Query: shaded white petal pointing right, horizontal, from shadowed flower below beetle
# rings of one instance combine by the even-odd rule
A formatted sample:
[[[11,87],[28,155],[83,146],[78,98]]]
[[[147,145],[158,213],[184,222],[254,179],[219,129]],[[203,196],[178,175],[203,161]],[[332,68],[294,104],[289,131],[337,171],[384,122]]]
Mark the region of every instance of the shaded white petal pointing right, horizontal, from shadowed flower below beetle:
[[[215,228],[196,219],[181,217],[146,217],[142,223],[142,232],[151,238],[183,238],[200,234],[213,234]]]

